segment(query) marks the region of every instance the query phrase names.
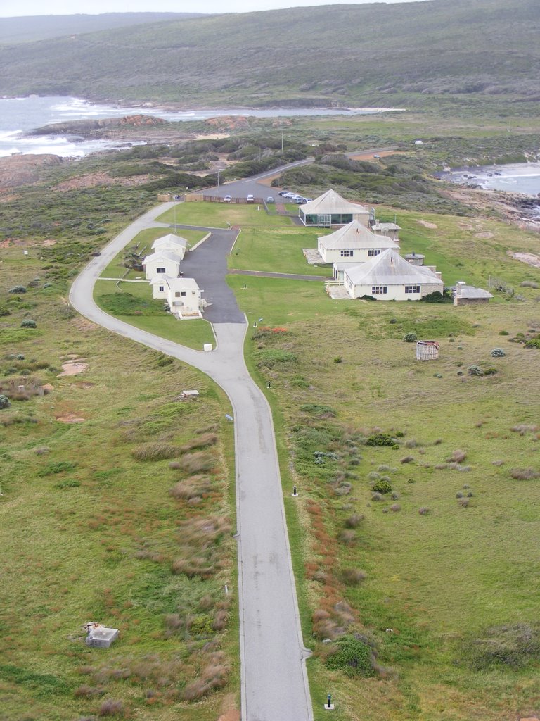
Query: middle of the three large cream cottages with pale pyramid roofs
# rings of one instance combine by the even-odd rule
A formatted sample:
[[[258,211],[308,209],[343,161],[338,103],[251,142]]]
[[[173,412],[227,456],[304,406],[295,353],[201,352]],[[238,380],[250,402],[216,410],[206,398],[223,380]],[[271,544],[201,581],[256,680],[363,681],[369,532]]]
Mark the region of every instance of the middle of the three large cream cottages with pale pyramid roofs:
[[[354,262],[357,265],[377,257],[387,248],[399,250],[399,247],[391,238],[372,233],[357,220],[317,239],[317,249],[325,263]]]

